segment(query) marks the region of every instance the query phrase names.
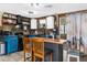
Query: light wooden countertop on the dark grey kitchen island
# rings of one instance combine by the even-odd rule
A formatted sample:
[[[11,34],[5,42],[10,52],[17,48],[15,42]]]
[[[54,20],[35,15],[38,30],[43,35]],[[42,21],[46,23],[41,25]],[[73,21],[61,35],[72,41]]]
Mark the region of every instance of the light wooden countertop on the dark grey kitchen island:
[[[62,40],[62,39],[59,40],[48,39],[48,37],[32,37],[32,39],[39,39],[39,40],[43,39],[44,42],[50,42],[50,43],[55,43],[55,44],[63,44],[64,42],[66,42],[66,40]]]

